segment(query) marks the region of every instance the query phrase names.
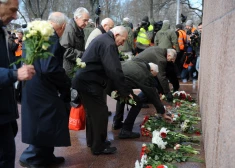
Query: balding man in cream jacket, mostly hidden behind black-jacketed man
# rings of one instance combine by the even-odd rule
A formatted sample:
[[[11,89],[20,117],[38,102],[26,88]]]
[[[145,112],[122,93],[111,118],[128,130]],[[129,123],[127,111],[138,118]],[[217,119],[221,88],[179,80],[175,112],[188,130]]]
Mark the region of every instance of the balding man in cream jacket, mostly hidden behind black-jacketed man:
[[[91,41],[96,38],[98,35],[108,32],[110,29],[114,27],[114,22],[110,18],[105,18],[101,21],[101,25],[94,29],[91,34],[88,36],[86,41],[85,49],[87,49],[88,45]]]

